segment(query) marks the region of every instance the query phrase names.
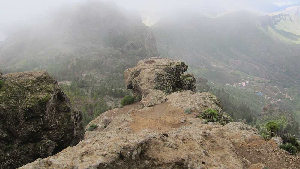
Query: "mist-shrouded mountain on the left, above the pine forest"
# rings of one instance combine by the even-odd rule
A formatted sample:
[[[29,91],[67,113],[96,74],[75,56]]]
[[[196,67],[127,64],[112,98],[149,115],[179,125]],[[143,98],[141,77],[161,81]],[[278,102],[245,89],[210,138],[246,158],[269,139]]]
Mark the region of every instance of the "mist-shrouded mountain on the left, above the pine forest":
[[[112,64],[127,66],[159,56],[155,37],[140,14],[113,2],[62,7],[44,23],[21,29],[0,46],[0,67],[11,68],[28,64],[27,59],[43,61],[56,55],[72,59],[90,54],[91,58],[110,58]]]

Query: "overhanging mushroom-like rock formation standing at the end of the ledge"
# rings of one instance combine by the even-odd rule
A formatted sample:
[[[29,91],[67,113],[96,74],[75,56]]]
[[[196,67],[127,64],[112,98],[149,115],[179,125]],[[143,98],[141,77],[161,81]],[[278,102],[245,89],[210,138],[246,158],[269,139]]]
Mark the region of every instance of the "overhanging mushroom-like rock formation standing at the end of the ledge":
[[[141,95],[141,105],[152,90],[161,90],[166,94],[175,91],[192,90],[195,92],[196,79],[192,74],[184,73],[187,65],[170,58],[148,58],[137,66],[124,71],[125,84],[134,89],[134,95]]]

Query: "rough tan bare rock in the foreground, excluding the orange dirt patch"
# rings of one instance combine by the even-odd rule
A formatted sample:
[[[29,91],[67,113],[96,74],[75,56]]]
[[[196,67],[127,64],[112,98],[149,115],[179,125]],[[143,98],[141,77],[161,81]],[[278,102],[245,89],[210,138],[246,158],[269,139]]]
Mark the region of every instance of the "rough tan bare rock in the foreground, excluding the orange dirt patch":
[[[228,140],[243,144],[248,140],[260,139],[255,135],[258,132],[255,128],[242,123],[206,125],[199,119],[164,133],[149,129],[134,133],[130,127],[134,118],[130,115],[115,117],[104,130],[101,129],[104,126],[102,118],[99,116],[91,122],[97,124],[99,129],[87,132],[85,140],[75,147],[68,147],[55,156],[38,159],[21,168],[179,169],[226,166],[246,169],[251,167],[251,162],[236,155]]]

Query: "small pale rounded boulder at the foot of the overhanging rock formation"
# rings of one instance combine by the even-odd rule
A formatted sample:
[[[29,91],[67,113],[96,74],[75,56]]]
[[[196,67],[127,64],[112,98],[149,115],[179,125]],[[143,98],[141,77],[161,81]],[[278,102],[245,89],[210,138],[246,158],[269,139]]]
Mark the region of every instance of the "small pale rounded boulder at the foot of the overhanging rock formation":
[[[161,104],[166,100],[166,95],[161,90],[151,90],[146,97],[145,106],[150,107],[155,104]]]

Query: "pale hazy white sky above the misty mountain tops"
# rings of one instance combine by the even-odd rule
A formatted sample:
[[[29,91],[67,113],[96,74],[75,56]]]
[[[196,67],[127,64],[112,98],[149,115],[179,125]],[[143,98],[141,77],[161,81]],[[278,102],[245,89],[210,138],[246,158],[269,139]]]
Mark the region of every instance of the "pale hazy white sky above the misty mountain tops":
[[[20,26],[39,23],[59,9],[61,5],[67,6],[76,2],[86,2],[86,0],[3,0],[0,5],[0,41],[4,41]],[[300,0],[214,0],[210,2],[196,0],[115,0],[114,2],[122,8],[140,11],[141,16],[143,16],[149,11],[176,11],[179,9],[217,11],[219,13],[246,9],[266,14],[276,11],[280,5],[289,5],[300,2]]]

